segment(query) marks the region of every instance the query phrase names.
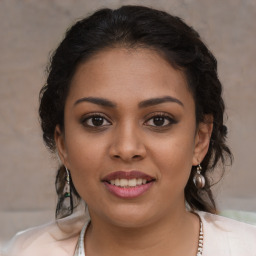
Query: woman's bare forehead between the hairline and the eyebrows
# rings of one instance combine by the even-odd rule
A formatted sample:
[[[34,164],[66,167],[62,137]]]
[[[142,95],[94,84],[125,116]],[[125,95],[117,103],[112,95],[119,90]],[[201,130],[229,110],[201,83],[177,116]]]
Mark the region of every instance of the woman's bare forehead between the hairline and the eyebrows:
[[[191,97],[182,71],[174,69],[151,49],[102,50],[80,64],[71,82],[68,98],[98,96],[116,102],[170,95]]]

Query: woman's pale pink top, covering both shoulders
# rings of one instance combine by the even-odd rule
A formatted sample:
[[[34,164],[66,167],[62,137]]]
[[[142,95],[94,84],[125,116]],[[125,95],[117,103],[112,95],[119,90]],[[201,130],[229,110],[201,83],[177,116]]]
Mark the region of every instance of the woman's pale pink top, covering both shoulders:
[[[256,256],[256,226],[197,212],[203,222],[203,256]],[[72,216],[18,233],[1,256],[74,256],[89,219]]]

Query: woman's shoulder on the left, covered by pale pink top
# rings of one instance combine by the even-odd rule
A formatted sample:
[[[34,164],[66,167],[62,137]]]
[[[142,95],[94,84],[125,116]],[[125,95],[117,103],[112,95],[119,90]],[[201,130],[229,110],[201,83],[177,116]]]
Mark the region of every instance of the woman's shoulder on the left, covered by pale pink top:
[[[77,219],[53,221],[19,232],[2,249],[1,256],[73,255],[83,225]]]

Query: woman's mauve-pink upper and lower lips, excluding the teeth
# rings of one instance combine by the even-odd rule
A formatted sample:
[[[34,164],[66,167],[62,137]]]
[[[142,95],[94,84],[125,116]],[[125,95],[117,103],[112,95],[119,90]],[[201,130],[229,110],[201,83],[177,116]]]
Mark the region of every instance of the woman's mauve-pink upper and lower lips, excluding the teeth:
[[[110,184],[110,180],[114,179],[146,179],[148,183],[137,185],[135,187],[119,187]],[[148,174],[132,170],[112,172],[106,175],[102,179],[102,182],[104,183],[107,190],[113,195],[123,199],[132,199],[137,198],[146,193],[154,185],[155,180],[155,178]]]

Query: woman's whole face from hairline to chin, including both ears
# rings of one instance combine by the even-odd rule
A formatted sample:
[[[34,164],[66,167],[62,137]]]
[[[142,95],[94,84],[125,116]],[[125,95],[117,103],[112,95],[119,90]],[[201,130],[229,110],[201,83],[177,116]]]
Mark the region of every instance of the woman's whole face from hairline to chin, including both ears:
[[[108,49],[81,64],[55,140],[92,219],[146,225],[185,211],[211,127],[196,125],[184,74],[149,49]]]

